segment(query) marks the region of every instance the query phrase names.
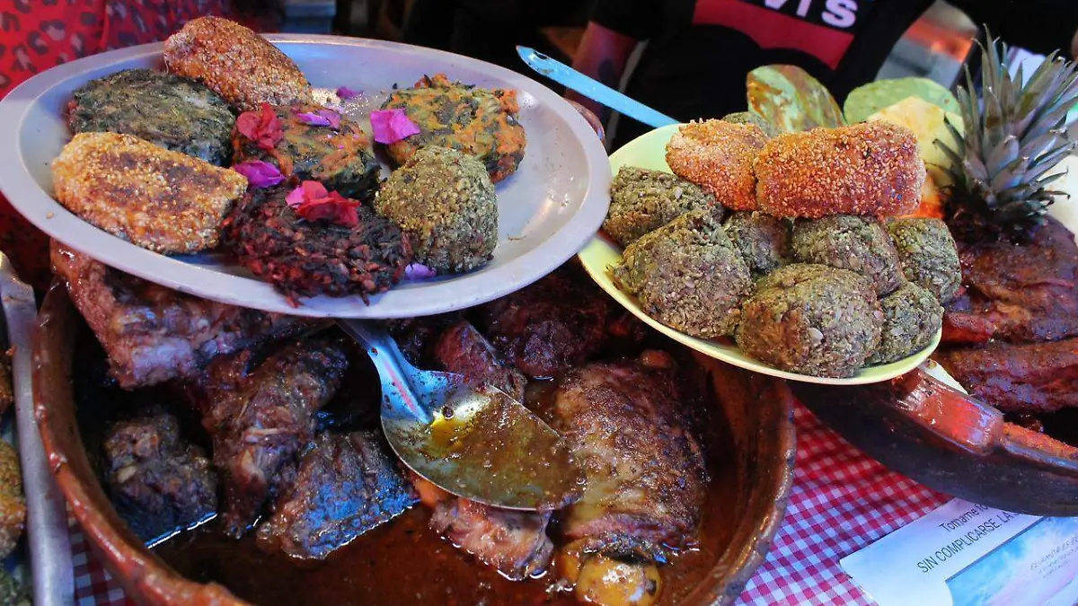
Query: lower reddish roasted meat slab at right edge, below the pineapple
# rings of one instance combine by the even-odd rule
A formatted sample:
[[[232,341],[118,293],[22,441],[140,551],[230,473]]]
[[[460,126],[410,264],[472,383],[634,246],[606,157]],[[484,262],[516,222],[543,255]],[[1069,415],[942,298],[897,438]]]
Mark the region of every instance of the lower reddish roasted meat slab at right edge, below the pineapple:
[[[970,394],[1004,412],[1078,407],[1078,339],[937,352],[937,361]]]

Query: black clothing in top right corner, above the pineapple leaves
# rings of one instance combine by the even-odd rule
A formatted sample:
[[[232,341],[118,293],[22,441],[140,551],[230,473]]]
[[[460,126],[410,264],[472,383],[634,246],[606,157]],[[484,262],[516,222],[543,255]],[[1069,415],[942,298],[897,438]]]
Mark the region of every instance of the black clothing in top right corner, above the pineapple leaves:
[[[994,38],[1039,54],[1060,51],[1078,57],[1078,2],[1075,0],[948,0]]]

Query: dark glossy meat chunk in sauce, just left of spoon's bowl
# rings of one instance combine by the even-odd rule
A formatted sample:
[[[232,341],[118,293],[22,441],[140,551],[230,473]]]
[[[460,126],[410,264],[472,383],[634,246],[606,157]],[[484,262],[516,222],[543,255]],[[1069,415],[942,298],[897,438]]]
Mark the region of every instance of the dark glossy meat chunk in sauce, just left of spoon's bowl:
[[[322,560],[416,502],[374,433],[322,433],[303,454],[295,483],[258,531],[259,545]]]

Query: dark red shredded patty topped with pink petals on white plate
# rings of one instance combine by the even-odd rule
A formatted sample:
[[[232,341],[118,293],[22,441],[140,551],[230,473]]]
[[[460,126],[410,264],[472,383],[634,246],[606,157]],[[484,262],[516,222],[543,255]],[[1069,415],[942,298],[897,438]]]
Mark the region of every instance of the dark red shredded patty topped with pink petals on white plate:
[[[294,187],[253,190],[229,215],[225,245],[245,267],[294,305],[318,294],[367,301],[400,280],[412,247],[397,225],[365,205],[351,228],[301,219],[286,201]]]

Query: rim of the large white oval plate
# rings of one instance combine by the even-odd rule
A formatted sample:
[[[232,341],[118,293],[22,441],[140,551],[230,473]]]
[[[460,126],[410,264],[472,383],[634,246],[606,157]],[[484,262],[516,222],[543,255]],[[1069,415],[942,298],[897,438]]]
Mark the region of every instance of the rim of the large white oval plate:
[[[0,144],[0,166],[4,167],[0,169],[0,191],[16,211],[65,246],[97,259],[99,251],[86,248],[97,249],[108,244],[109,252],[103,256],[108,259],[102,261],[118,270],[204,299],[307,317],[389,319],[447,313],[479,305],[524,288],[549,274],[579,252],[603,224],[609,206],[611,178],[606,150],[588,121],[568,101],[535,80],[470,57],[398,42],[302,33],[268,35],[265,38],[275,45],[347,46],[411,56],[439,57],[446,64],[444,67],[448,67],[450,64],[462,65],[503,80],[507,86],[533,95],[538,105],[552,111],[566,125],[567,135],[580,144],[586,161],[584,173],[588,178],[588,189],[562,229],[531,250],[500,265],[496,270],[496,275],[499,277],[495,279],[492,279],[487,272],[480,270],[430,285],[412,283],[407,288],[393,288],[372,297],[370,305],[364,305],[359,295],[347,298],[320,295],[302,298],[301,306],[292,307],[285,295],[277,292],[268,283],[253,277],[208,270],[196,263],[158,254],[93,226],[59,205],[30,174],[18,137],[24,128],[32,128],[32,125],[27,125],[30,107],[59,82],[85,71],[107,68],[125,60],[160,60],[164,43],[155,42],[109,51],[56,66],[23,82],[0,100],[0,123],[12,125],[6,133],[0,134],[0,141],[6,143]],[[288,49],[284,50],[287,54]],[[52,209],[51,216],[40,210],[34,212],[33,207],[43,205],[55,205],[58,209]],[[70,235],[71,233],[75,234],[74,237]],[[69,244],[66,242],[68,239],[73,239],[78,244]],[[442,285],[452,285],[452,288]]]

